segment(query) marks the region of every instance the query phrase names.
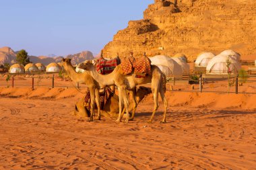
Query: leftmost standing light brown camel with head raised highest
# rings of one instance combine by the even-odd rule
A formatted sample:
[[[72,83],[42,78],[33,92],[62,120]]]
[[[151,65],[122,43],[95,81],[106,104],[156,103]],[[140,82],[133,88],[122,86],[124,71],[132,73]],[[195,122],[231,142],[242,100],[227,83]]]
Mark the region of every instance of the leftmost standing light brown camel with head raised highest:
[[[100,95],[98,91],[99,89],[98,83],[88,73],[77,73],[73,68],[73,66],[71,65],[71,58],[63,58],[62,62],[67,75],[69,75],[72,81],[74,81],[75,83],[84,83],[88,86],[90,91],[90,99],[92,101],[90,103],[91,104],[90,107],[93,108],[89,121],[93,121],[95,103],[97,105],[97,108],[100,108]],[[82,114],[82,116],[84,117],[88,117],[88,113],[85,112],[84,110],[81,110],[79,114]],[[98,109],[98,116],[96,120],[100,120],[100,109]]]

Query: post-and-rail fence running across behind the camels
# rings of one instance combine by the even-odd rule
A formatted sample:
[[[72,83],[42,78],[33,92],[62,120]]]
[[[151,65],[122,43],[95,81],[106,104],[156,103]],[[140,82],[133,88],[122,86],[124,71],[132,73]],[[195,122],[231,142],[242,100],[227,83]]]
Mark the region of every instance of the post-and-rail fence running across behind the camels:
[[[197,78],[196,78],[197,77]],[[198,78],[199,77],[199,78]],[[143,85],[150,87],[150,84]],[[0,87],[62,87],[62,88],[79,88],[87,87],[84,84],[67,81],[57,73],[55,74],[5,74],[0,75]],[[167,82],[167,90],[170,91],[189,91],[199,93],[256,93],[256,75],[248,77],[238,77],[232,75],[228,78],[221,77],[204,77],[199,74],[183,75],[183,78],[172,78]]]

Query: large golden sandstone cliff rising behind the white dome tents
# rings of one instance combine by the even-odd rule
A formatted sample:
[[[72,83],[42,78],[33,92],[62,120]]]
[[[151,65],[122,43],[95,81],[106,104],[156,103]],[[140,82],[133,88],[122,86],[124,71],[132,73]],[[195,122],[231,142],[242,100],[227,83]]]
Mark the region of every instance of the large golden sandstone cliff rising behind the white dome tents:
[[[256,1],[155,0],[143,19],[130,21],[106,44],[106,57],[176,53],[195,60],[197,54],[218,54],[232,49],[245,56],[256,54]]]

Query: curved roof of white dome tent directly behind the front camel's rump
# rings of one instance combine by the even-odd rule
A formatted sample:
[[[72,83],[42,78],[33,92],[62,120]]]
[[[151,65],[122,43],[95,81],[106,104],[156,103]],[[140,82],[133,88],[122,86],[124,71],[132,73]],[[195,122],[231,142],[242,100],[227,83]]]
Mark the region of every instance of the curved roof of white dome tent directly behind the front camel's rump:
[[[152,65],[162,65],[168,67],[174,76],[183,75],[183,69],[175,60],[168,56],[158,55],[150,57]]]

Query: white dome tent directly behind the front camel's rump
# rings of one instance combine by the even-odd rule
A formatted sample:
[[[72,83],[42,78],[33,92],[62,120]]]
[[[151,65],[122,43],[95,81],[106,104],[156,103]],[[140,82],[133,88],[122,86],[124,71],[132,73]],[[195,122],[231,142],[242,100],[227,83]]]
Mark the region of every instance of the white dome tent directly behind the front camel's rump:
[[[182,77],[183,69],[175,60],[168,56],[158,55],[150,57],[151,64],[156,65],[166,77]]]

